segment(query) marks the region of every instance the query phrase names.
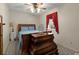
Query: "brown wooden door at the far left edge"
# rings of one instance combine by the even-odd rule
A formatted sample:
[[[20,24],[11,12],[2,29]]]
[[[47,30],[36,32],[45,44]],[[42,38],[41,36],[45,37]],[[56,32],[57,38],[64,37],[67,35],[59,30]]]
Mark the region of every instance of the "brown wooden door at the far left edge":
[[[2,16],[0,16],[0,55],[3,54],[3,23]]]

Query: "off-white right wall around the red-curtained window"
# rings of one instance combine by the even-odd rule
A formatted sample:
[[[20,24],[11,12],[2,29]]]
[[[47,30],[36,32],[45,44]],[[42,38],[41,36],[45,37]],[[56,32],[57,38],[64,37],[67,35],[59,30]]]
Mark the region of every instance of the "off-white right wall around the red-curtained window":
[[[55,41],[65,47],[79,51],[79,4],[64,4],[41,16],[41,22],[46,26],[45,16],[58,12],[59,34]]]

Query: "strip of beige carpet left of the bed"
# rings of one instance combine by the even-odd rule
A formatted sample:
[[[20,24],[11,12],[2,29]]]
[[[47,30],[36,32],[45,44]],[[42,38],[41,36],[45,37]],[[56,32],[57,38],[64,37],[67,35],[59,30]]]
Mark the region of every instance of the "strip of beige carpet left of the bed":
[[[10,41],[5,55],[18,55],[20,51],[18,49],[18,42],[17,41]]]

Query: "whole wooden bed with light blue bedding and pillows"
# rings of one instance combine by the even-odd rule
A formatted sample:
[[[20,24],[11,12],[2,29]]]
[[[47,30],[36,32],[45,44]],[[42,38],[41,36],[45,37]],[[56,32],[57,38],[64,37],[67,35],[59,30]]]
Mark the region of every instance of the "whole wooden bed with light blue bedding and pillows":
[[[19,44],[18,47],[21,49],[21,52],[28,52],[31,40],[31,34],[41,33],[46,31],[36,30],[35,24],[18,24],[18,38]],[[29,53],[29,52],[28,52]]]

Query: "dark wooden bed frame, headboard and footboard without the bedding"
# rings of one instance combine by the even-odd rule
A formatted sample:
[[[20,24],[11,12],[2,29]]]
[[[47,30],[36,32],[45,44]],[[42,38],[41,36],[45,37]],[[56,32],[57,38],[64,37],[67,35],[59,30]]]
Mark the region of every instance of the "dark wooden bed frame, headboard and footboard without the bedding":
[[[34,30],[36,30],[36,25],[35,24],[18,24],[17,30],[18,32],[21,31],[21,27],[34,27]],[[28,42],[30,41],[30,35],[22,35],[22,47],[21,47],[21,54],[23,52],[29,53],[28,52]]]

